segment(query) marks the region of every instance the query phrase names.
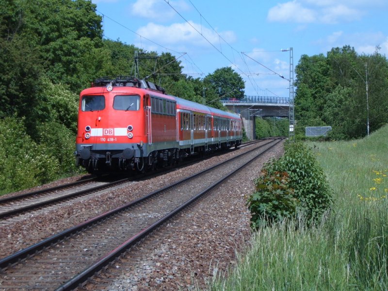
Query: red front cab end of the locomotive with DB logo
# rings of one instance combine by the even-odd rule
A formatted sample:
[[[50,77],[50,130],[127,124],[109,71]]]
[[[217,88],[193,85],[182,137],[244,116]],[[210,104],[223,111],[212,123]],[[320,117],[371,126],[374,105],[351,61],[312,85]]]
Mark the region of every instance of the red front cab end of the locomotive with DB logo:
[[[89,173],[141,170],[149,95],[136,78],[97,80],[80,94],[77,164]]]

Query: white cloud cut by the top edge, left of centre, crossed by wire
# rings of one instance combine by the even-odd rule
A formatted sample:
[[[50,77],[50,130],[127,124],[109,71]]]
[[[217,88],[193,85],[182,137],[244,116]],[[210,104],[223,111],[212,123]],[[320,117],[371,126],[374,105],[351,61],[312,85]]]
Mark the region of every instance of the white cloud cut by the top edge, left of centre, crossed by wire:
[[[178,11],[188,10],[188,5],[182,0],[169,1]],[[137,0],[131,5],[131,14],[150,19],[165,21],[176,16],[176,12],[162,0]]]

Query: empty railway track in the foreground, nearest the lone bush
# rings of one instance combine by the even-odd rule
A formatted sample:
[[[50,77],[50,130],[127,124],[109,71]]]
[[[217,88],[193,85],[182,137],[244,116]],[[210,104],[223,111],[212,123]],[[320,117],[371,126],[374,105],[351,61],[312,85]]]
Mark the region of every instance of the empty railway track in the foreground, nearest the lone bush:
[[[1,259],[0,267],[4,270],[0,273],[0,289],[70,290],[77,287],[155,227],[277,142],[270,141]]]

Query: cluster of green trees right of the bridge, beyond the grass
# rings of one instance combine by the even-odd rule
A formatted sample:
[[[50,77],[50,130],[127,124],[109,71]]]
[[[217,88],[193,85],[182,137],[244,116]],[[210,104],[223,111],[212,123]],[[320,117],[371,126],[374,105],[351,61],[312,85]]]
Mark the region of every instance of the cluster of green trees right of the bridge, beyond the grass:
[[[333,48],[323,54],[303,55],[295,68],[296,133],[306,126],[332,126],[330,136],[350,139],[376,130],[388,121],[388,61],[379,53],[356,53]],[[368,102],[367,102],[368,85]]]

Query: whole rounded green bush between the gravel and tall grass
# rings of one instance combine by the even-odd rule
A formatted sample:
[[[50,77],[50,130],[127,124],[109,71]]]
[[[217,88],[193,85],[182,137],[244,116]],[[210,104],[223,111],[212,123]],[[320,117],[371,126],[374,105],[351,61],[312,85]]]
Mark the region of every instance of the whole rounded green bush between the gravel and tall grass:
[[[290,143],[283,157],[263,167],[248,205],[254,228],[295,215],[295,206],[314,223],[332,206],[332,193],[314,153],[302,143]]]

